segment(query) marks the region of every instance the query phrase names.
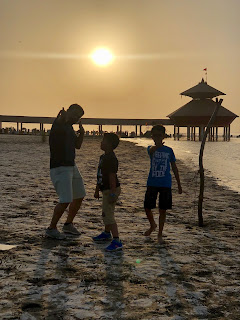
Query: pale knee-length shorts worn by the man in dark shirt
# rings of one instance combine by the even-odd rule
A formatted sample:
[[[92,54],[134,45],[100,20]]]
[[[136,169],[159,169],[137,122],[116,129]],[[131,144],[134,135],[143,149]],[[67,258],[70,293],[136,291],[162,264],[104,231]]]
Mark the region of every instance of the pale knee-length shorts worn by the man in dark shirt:
[[[50,177],[60,203],[70,203],[86,195],[84,183],[77,166],[50,169]]]

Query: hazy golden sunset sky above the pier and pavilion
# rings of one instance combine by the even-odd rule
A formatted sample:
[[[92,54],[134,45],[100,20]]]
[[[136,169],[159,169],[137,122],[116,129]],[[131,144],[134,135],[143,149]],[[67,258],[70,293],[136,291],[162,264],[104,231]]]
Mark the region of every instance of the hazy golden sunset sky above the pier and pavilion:
[[[85,117],[166,118],[207,68],[240,116],[239,12],[239,0],[0,0],[0,114],[78,103]],[[98,47],[112,63],[93,63]]]

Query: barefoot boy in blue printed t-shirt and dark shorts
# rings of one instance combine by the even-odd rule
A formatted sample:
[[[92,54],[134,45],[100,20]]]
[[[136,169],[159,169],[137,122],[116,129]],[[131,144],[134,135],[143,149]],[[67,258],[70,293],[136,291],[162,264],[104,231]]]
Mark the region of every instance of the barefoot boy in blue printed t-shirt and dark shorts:
[[[166,220],[166,210],[172,209],[172,177],[170,166],[178,184],[178,193],[182,193],[181,182],[176,166],[176,158],[172,148],[164,146],[165,128],[162,125],[156,125],[151,130],[151,136],[155,146],[148,147],[148,154],[151,161],[151,167],[147,180],[147,191],[145,194],[144,208],[150,223],[150,228],[144,233],[145,236],[157,228],[152,209],[156,208],[157,196],[159,193],[159,231],[158,243],[162,244],[162,232]]]

